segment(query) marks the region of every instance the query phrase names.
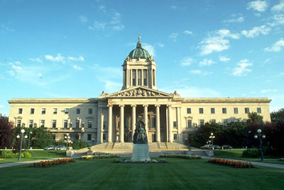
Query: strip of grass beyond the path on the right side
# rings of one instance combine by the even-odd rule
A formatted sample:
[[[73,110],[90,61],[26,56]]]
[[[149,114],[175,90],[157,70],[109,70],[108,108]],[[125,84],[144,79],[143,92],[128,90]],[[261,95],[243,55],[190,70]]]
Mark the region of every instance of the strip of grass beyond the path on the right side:
[[[215,149],[214,157],[226,158],[226,159],[240,159],[251,162],[261,162],[261,157],[258,158],[242,157],[243,151],[244,151],[243,149]],[[271,164],[284,164],[284,161],[280,161],[279,159],[271,159],[266,157],[264,157],[263,162]]]

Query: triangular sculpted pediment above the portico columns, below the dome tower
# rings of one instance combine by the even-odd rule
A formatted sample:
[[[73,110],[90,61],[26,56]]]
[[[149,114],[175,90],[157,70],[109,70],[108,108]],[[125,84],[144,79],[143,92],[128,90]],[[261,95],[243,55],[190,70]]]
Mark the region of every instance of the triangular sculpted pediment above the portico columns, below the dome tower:
[[[173,95],[159,90],[138,86],[106,95],[106,97],[173,97]]]

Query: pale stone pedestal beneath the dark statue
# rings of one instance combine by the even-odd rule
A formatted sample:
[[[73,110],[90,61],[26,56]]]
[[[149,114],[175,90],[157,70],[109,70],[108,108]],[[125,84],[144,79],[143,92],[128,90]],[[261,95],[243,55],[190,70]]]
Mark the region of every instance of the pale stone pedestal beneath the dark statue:
[[[149,145],[148,144],[133,144],[132,162],[145,162],[145,160],[151,161],[149,157]]]

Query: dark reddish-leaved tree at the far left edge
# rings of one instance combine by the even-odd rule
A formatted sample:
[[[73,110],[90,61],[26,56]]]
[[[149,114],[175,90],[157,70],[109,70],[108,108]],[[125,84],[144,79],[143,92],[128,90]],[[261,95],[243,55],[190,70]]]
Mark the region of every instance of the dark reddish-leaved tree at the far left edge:
[[[9,118],[0,114],[0,148],[12,147],[12,127],[13,122]]]

